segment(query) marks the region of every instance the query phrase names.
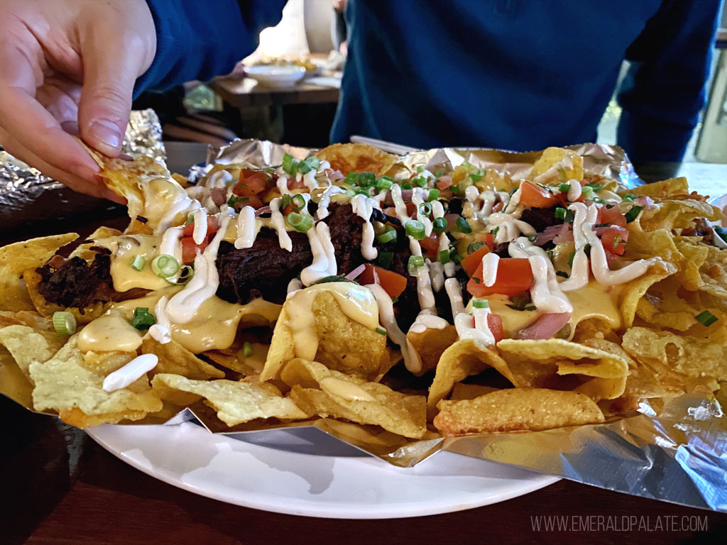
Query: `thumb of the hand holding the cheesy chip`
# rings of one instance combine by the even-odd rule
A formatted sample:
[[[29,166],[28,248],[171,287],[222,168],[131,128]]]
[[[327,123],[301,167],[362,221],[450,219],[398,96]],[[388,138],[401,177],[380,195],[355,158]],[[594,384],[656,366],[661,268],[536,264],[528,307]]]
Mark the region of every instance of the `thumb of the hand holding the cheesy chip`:
[[[87,41],[84,49],[84,84],[79,100],[81,138],[95,150],[116,157],[129,122],[138,61],[133,57],[133,48],[124,48],[108,36],[105,41]]]

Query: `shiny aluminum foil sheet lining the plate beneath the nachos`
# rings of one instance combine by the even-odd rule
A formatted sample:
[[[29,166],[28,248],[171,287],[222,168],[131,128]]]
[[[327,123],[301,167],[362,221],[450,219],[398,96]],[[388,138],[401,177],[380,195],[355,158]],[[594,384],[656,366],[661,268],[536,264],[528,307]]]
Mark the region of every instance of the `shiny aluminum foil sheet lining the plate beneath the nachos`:
[[[619,179],[626,187],[642,183],[620,148],[582,144],[571,149],[584,156],[584,169],[588,173]],[[208,162],[277,166],[284,153],[300,159],[314,151],[237,140],[225,148],[210,148]],[[517,178],[536,158],[537,152],[440,148],[402,156],[399,166],[409,168],[425,163],[427,168],[435,170],[451,168],[467,160]],[[209,164],[193,167],[191,177],[208,169]],[[2,356],[0,392],[32,410],[31,384],[15,362]],[[661,405],[658,401],[644,401],[634,416],[606,424],[449,439],[432,433],[424,440],[414,441],[378,427],[332,419],[267,427],[241,424],[228,428],[204,403],[185,408],[171,420],[146,419],[140,423],[173,425],[193,419],[210,432],[232,437],[265,433],[278,427],[317,427],[397,467],[412,467],[439,451],[450,451],[635,496],[727,512],[727,417],[720,400],[689,394]]]

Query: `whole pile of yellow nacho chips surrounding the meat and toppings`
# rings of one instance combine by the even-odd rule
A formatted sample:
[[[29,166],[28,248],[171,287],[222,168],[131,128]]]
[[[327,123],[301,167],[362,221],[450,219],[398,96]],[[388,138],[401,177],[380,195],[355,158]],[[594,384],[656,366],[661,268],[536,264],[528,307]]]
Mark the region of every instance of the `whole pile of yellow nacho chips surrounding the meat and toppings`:
[[[184,190],[185,179],[172,179],[153,161],[96,157],[108,187],[129,203],[132,222],[126,234],[148,234],[161,219],[149,206],[153,193]],[[379,177],[401,169],[399,158],[361,145],[333,145],[318,158],[344,173],[370,171]],[[534,162],[529,179],[566,159],[564,177],[587,174],[580,156],[549,148]],[[234,177],[241,168],[213,171],[227,170]],[[455,182],[465,177],[459,166],[450,174]],[[517,187],[507,172],[490,171],[481,180],[496,181]],[[616,180],[600,183],[626,193]],[[162,344],[145,335],[134,351],[84,352],[79,331],[115,303],[68,309],[80,329],[58,334],[50,318],[67,309],[44,301],[36,272],[77,235],[11,244],[0,248],[3,391],[78,427],[164,421],[193,406],[212,411],[230,429],[330,418],[411,440],[598,424],[629,415],[643,399],[716,392],[727,380],[727,250],[692,232],[697,220],[716,221],[721,214],[702,195],[689,193],[683,178],[628,193],[648,197],[653,206],[628,224],[625,257],[660,257],[667,265],[620,288],[619,326],[589,318],[577,323],[570,340],[505,338],[486,348],[458,339],[454,326],[410,332],[408,341],[428,371],[422,376],[403,372],[401,353],[386,336],[350,318],[326,290],[311,307],[318,344],[308,359],[296,355],[289,302],[278,309],[277,320],[245,316],[224,348],[196,354],[175,340]],[[91,246],[116,235],[97,231],[71,255],[90,262]],[[706,326],[696,319],[704,311],[716,318]],[[131,318],[128,308],[116,312]],[[156,355],[156,367],[127,387],[103,388],[109,374],[141,354]],[[23,395],[23,387],[9,387],[22,380],[32,399]]]

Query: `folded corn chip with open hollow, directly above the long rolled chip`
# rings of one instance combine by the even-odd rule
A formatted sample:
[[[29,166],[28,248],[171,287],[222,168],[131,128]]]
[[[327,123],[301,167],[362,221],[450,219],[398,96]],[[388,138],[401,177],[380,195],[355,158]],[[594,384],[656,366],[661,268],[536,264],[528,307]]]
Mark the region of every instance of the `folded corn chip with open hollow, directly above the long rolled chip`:
[[[502,339],[497,349],[518,388],[574,390],[590,382],[594,398],[607,399],[621,395],[614,379],[629,372],[627,360],[615,353],[562,339]]]

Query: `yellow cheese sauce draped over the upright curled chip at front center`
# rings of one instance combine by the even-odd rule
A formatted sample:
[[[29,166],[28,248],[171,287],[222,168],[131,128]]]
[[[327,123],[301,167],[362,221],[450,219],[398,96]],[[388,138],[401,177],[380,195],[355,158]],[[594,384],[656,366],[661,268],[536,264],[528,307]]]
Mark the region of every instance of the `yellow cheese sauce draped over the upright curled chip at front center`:
[[[333,294],[342,312],[351,320],[369,329],[379,327],[379,306],[369,288],[349,282],[314,284],[294,292],[286,301],[286,325],[293,334],[295,355],[314,360],[318,352],[318,332],[313,316],[313,301],[323,291]]]

